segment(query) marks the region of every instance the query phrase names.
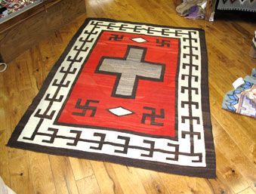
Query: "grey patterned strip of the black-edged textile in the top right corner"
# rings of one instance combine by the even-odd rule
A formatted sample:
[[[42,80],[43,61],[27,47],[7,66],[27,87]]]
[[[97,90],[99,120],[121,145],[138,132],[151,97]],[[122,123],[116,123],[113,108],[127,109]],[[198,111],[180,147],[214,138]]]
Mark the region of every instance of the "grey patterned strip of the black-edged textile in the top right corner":
[[[219,0],[217,9],[256,12],[256,0]]]

